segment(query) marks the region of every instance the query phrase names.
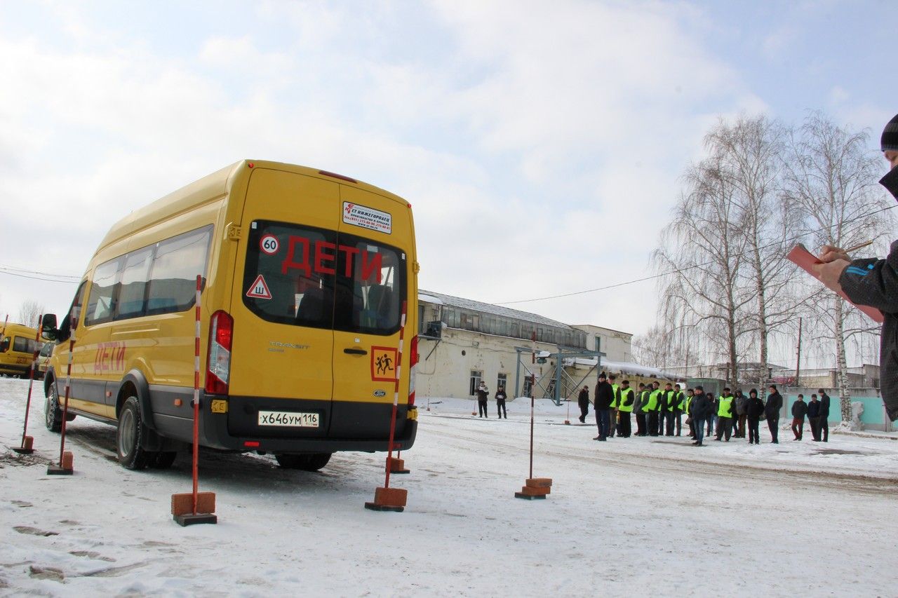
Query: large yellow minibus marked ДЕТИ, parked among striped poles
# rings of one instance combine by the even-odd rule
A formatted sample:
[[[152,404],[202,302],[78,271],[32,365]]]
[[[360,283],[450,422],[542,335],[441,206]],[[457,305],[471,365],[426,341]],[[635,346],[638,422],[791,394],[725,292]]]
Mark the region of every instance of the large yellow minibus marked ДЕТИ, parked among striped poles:
[[[128,469],[171,465],[192,439],[200,275],[201,445],[302,470],[388,450],[398,371],[393,448],[408,449],[417,273],[402,198],[302,166],[228,166],[114,224],[69,312],[45,318],[46,425],[62,424],[74,334],[70,416],[118,426]]]

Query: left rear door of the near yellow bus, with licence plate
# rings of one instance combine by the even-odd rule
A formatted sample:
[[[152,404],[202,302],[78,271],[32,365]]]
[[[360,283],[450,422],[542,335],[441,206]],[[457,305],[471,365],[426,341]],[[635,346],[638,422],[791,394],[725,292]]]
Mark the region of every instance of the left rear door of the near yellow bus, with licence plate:
[[[335,251],[338,219],[338,183],[252,171],[242,215],[246,251],[233,278],[232,435],[328,433],[334,277],[322,256]]]

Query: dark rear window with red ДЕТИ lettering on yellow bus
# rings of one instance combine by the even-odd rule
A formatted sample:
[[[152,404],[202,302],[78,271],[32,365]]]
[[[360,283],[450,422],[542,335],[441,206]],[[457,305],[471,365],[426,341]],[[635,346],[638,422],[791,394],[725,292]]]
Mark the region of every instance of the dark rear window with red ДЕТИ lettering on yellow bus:
[[[405,296],[405,254],[326,229],[251,225],[243,303],[263,320],[393,334]]]

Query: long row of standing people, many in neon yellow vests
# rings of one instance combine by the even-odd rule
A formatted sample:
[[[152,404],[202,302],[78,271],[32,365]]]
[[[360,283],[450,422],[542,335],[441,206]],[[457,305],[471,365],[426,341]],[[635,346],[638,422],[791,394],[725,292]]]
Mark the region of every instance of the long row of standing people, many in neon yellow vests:
[[[682,416],[689,428],[692,444],[702,446],[706,435],[715,435],[715,440],[729,442],[731,437],[744,438],[747,429],[749,444],[761,444],[759,432],[762,420],[770,429],[770,442],[779,444],[779,413],[783,407],[783,397],[775,384],[768,388],[766,402],[752,389],[746,397],[741,390],[735,395],[725,388],[718,398],[704,387],[681,390],[680,384],[665,384],[661,390],[657,381],[650,384],[639,383],[637,389],[629,385],[629,380],[616,383],[614,374],[599,374],[595,385],[595,424],[599,435],[594,440],[604,442],[618,435],[629,438],[632,434],[632,416],[636,415],[636,435],[638,436],[679,436],[682,434]],[[805,403],[804,396],[792,406],[792,430],[796,440],[802,439],[805,417],[811,422],[811,433],[815,441],[829,441],[830,397],[823,389],[820,397],[811,396]],[[589,412],[589,387],[584,386],[577,397],[580,407],[580,421],[585,423]]]

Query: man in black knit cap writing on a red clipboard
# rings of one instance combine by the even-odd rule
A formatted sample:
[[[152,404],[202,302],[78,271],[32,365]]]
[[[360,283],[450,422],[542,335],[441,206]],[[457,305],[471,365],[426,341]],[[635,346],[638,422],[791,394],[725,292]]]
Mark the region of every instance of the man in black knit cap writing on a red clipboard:
[[[891,170],[879,183],[898,199],[898,115],[885,125],[882,150]],[[854,248],[852,248],[854,249]],[[885,259],[850,259],[848,251],[824,245],[814,274],[851,303],[869,305],[883,313],[879,347],[880,386],[889,419],[898,419],[898,241]]]

